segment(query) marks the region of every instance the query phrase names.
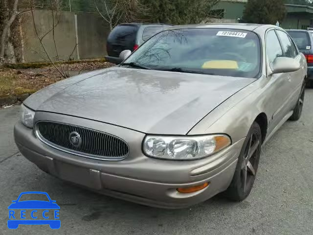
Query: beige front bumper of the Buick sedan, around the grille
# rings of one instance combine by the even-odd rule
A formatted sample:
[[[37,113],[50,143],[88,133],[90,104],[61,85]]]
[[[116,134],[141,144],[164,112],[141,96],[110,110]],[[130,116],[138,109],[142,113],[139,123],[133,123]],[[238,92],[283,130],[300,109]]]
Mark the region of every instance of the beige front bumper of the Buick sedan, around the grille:
[[[46,119],[55,119],[52,116],[60,115],[48,114]],[[67,122],[68,118],[71,122]],[[63,117],[63,121],[75,122],[77,125],[83,121],[85,126],[92,123],[94,128],[98,123],[73,117]],[[116,132],[128,133],[123,136],[130,144],[131,152],[125,160],[112,162],[87,159],[62,152],[37,139],[34,131],[21,122],[15,125],[14,137],[22,155],[49,174],[106,195],[160,208],[188,207],[228,188],[244,142],[242,139],[201,160],[159,160],[144,156],[140,146],[132,148],[134,143],[131,139],[137,144],[145,134],[100,122],[98,125],[97,130],[106,130],[116,136]],[[205,182],[210,182],[207,188],[193,193],[179,193],[176,189]]]

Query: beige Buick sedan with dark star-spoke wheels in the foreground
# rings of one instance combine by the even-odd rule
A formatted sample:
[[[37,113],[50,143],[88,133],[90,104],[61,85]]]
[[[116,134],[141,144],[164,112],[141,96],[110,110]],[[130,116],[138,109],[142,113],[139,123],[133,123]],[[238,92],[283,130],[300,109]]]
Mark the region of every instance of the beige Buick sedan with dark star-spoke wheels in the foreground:
[[[301,116],[307,63],[290,36],[273,25],[183,25],[130,53],[29,96],[14,128],[21,153],[61,179],[153,207],[220,192],[244,200],[261,146]]]

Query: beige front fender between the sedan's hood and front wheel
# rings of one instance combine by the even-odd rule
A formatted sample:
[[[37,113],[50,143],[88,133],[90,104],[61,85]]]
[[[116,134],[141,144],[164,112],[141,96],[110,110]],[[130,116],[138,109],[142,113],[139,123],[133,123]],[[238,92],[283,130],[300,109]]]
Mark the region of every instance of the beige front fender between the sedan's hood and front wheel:
[[[232,95],[194,126],[188,135],[224,133],[232,142],[245,138],[259,114],[265,113],[268,117],[267,100],[262,97],[265,82],[266,77],[262,77]]]

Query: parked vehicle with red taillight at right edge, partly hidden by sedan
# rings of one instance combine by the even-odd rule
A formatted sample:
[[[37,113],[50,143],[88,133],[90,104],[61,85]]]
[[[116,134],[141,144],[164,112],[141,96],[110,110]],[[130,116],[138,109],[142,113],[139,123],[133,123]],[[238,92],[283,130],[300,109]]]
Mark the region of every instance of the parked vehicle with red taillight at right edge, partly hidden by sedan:
[[[307,85],[313,88],[313,31],[292,29],[287,30],[300,52],[305,55],[308,63]]]

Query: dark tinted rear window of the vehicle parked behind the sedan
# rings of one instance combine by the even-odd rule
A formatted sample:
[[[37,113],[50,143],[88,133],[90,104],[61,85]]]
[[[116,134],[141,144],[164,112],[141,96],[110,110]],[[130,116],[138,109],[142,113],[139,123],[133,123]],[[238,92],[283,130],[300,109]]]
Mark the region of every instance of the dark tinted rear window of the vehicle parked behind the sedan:
[[[117,25],[108,37],[110,43],[134,42],[138,27],[135,25]]]

